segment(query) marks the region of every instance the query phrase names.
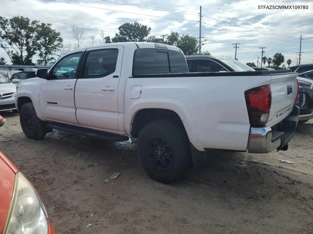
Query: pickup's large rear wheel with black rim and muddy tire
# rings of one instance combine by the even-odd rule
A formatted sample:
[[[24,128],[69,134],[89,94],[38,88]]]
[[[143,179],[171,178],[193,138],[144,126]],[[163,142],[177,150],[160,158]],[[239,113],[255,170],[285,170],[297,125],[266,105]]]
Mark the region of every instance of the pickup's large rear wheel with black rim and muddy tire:
[[[182,126],[167,120],[147,124],[137,138],[138,159],[155,181],[169,183],[192,166],[189,139]]]

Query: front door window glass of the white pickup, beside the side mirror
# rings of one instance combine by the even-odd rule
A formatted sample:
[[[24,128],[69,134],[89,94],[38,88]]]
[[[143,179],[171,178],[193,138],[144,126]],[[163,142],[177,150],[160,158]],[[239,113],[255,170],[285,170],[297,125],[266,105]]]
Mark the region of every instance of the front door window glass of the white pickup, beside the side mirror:
[[[72,54],[61,59],[52,71],[52,79],[73,79],[80,61],[81,52]],[[72,71],[64,71],[64,68],[73,68]]]

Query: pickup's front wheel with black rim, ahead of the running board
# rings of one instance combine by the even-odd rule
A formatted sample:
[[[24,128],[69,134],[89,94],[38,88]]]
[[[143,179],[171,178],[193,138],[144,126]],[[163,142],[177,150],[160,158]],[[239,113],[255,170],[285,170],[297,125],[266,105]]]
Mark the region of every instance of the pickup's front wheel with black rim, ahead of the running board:
[[[24,134],[29,139],[43,139],[47,134],[47,127],[38,119],[33,103],[25,103],[20,110],[20,123]]]

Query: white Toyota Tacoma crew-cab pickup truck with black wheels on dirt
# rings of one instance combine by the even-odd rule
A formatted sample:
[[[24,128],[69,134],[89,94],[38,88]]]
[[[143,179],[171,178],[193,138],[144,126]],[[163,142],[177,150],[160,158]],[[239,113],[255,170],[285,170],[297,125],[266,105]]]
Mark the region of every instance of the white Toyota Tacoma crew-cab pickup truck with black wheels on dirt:
[[[190,168],[194,149],[287,150],[298,123],[297,73],[188,73],[182,51],[164,44],[81,48],[36,76],[15,95],[28,138],[53,129],[110,141],[137,138],[141,165],[161,182]]]

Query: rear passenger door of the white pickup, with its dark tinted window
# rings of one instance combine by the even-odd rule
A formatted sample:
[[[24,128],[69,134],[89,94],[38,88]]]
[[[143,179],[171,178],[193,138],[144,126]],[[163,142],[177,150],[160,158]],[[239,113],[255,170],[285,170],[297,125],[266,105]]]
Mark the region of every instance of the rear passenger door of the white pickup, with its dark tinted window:
[[[82,126],[118,131],[118,85],[123,46],[86,50],[75,86],[76,118]]]

